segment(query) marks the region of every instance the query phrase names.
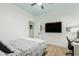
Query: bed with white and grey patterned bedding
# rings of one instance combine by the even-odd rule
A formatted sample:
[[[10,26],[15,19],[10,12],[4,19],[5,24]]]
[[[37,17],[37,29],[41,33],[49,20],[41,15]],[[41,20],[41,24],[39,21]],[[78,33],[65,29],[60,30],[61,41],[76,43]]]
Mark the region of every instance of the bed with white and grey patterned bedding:
[[[42,56],[48,47],[44,40],[34,38],[20,38],[7,42],[13,53],[6,54],[6,56]]]

